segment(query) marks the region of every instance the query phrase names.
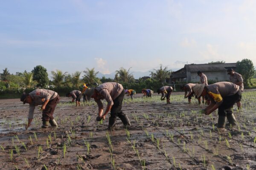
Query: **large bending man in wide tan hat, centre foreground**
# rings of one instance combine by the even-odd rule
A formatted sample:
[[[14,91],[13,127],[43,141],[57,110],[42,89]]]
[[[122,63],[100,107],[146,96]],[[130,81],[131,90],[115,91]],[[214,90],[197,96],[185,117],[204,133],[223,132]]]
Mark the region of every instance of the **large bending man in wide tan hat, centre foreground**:
[[[125,96],[125,89],[121,84],[117,82],[105,82],[98,87],[94,88],[92,98],[97,103],[99,108],[99,115],[97,121],[105,119],[106,115],[110,111],[110,118],[108,122],[108,130],[112,130],[116,123],[116,116],[118,116],[125,127],[131,126],[130,120],[125,113],[122,112],[122,100]],[[101,99],[105,99],[108,102],[107,108],[103,113],[103,104]]]

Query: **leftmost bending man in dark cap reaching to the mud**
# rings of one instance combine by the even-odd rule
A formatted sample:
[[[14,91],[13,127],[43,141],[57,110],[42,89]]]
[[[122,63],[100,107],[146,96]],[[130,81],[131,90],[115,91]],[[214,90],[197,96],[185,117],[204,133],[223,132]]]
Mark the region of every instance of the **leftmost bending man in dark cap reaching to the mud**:
[[[31,125],[31,122],[34,118],[35,106],[38,105],[42,105],[42,128],[47,128],[49,123],[51,126],[57,127],[58,125],[53,118],[53,113],[59,100],[60,96],[55,91],[47,89],[36,89],[29,94],[23,93],[20,97],[20,101],[23,102],[23,104],[29,103],[29,116],[26,130]]]

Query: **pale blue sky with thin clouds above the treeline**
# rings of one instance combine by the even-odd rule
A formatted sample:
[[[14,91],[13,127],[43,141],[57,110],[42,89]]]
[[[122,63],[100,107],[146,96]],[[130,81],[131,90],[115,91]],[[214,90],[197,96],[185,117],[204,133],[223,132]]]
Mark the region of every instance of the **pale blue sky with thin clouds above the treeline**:
[[[256,65],[255,0],[0,0],[0,72]]]

